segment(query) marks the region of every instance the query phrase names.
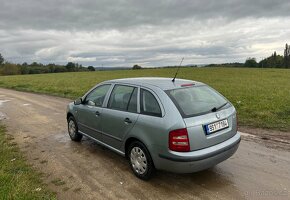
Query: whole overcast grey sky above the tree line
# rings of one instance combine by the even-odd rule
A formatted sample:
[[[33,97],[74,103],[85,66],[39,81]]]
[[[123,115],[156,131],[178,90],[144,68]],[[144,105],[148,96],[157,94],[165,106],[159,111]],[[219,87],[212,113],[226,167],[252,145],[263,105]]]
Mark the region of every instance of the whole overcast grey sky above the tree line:
[[[289,0],[0,0],[0,53],[96,67],[259,61],[283,54],[289,24]]]

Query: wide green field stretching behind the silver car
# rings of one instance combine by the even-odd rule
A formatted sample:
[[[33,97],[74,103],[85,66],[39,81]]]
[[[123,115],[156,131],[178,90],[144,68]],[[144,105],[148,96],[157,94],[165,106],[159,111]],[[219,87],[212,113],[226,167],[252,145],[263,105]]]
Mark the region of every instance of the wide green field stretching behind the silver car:
[[[75,99],[95,84],[115,78],[172,77],[176,69],[142,69],[0,77],[0,87]],[[204,82],[237,108],[239,125],[290,131],[290,70],[181,68],[179,78]]]

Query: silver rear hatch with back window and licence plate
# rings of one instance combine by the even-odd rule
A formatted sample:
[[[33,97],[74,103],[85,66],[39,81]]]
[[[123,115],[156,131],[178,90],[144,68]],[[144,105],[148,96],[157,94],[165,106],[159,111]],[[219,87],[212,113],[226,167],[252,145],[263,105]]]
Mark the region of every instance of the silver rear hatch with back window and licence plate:
[[[235,108],[211,87],[189,85],[166,93],[183,117],[190,151],[219,144],[236,134]]]

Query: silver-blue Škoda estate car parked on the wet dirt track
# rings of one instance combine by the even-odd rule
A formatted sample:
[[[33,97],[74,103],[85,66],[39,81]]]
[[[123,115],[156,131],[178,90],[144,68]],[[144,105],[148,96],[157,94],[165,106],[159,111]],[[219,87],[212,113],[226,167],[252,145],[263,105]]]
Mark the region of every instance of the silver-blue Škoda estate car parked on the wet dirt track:
[[[192,173],[232,156],[241,137],[234,106],[204,83],[170,78],[102,82],[67,106],[73,141],[87,136],[128,158],[134,174]]]

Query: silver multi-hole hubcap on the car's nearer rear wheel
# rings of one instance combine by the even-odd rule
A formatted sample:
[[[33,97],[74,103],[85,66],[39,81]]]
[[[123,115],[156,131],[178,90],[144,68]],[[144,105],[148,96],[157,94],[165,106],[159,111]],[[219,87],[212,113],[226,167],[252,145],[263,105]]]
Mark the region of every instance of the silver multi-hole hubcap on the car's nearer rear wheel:
[[[147,159],[142,149],[139,147],[134,147],[130,153],[130,160],[135,172],[138,174],[144,174],[146,172]]]

